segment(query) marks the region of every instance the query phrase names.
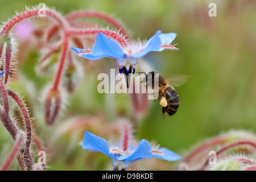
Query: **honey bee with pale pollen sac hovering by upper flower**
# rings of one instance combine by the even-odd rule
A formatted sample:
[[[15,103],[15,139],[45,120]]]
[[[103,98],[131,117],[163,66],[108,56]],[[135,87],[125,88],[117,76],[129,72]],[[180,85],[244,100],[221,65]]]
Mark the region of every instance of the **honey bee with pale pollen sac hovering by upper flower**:
[[[158,96],[156,96],[155,98],[158,98],[160,100],[163,118],[165,113],[167,113],[169,116],[174,115],[177,112],[177,109],[179,108],[180,105],[179,96],[175,88],[168,83],[166,78],[158,74],[156,75],[154,71],[149,72],[148,74],[144,73],[144,75],[145,77],[143,78],[142,83],[146,86],[147,89],[149,85],[151,85],[151,88],[155,88],[154,84],[158,84],[159,86],[159,93]],[[155,82],[154,80],[156,77],[158,77],[158,81]],[[181,82],[184,82],[187,79],[183,77],[182,81],[180,78],[179,80],[180,81],[178,82],[180,82],[181,84]]]

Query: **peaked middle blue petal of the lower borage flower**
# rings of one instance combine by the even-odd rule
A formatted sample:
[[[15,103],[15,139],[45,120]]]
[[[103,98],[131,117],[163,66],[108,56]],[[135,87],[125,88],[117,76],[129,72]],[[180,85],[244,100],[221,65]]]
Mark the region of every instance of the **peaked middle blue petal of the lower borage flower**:
[[[152,158],[152,149],[150,143],[146,140],[142,139],[139,142],[136,150],[130,155],[117,155],[115,156],[117,160],[122,160],[123,162],[131,162],[134,160],[141,160],[141,159],[151,159]]]

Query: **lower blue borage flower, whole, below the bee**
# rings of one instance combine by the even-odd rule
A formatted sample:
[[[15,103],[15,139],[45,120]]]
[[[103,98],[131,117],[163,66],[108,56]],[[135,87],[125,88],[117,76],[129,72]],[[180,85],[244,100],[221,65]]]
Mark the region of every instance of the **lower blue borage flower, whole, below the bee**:
[[[109,145],[109,143],[98,137],[89,131],[84,132],[84,140],[82,142],[82,148],[94,152],[102,152],[113,159],[113,166],[116,168],[118,162],[122,162],[125,169],[128,168],[129,163],[133,163],[136,160],[159,158],[168,161],[174,161],[181,159],[181,156],[168,150],[167,148],[152,148],[150,143],[142,139],[138,146],[129,146],[126,151],[123,150],[121,144]]]

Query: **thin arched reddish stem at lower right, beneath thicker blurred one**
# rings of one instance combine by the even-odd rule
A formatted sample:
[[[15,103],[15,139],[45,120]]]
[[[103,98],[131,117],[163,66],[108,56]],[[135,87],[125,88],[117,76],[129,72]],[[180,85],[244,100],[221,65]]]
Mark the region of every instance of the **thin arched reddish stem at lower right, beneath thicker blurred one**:
[[[244,144],[252,146],[256,149],[256,143],[254,143],[250,140],[241,140],[241,141],[238,141],[238,142],[233,142],[233,143],[226,144],[225,146],[223,146],[222,148],[220,148],[219,150],[216,151],[216,156],[220,155],[221,153],[223,153],[227,150],[229,150],[230,148],[237,147],[237,146],[244,145]],[[197,169],[197,171],[202,171],[202,170],[204,170],[205,167],[207,167],[210,157],[211,156],[208,156],[208,158],[207,158],[207,160],[205,160],[203,166],[200,167],[199,169]]]

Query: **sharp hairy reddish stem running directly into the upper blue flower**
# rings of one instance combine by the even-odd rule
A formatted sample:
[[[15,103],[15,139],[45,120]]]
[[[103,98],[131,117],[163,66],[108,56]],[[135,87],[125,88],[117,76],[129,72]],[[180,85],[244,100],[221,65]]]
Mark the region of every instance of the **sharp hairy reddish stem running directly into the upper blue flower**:
[[[122,36],[120,36],[119,34],[109,31],[109,30],[104,30],[104,29],[74,29],[74,28],[70,28],[68,30],[68,33],[71,36],[79,36],[79,35],[93,35],[93,34],[98,34],[99,32],[101,32],[102,34],[105,34],[106,36],[109,36],[110,38],[113,38],[115,40],[117,40],[117,42],[119,44],[121,44],[122,47],[126,47],[128,46],[128,43],[125,39],[122,38]]]

